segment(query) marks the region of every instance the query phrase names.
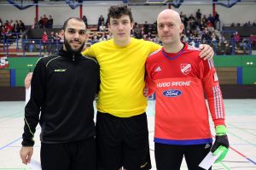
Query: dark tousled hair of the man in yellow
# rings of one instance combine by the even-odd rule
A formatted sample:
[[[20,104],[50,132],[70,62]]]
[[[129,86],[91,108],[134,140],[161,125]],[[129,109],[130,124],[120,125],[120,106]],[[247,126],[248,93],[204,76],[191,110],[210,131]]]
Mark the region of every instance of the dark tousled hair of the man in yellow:
[[[108,22],[110,22],[110,18],[119,19],[122,15],[128,15],[131,22],[133,22],[133,17],[131,14],[131,8],[128,8],[125,5],[114,5],[108,8]]]

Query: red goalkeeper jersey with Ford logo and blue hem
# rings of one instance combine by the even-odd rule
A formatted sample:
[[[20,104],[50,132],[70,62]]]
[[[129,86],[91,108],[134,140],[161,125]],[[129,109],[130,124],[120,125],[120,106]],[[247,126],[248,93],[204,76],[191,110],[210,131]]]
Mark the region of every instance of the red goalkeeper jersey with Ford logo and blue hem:
[[[208,105],[215,126],[224,125],[224,102],[212,59],[184,43],[177,54],[164,48],[146,61],[149,94],[156,94],[154,142],[207,144],[212,142]]]

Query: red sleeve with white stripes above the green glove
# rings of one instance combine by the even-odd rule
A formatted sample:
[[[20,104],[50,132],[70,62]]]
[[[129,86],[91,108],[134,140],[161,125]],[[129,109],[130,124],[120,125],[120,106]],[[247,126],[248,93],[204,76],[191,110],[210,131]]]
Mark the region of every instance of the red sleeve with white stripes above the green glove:
[[[202,60],[201,76],[204,91],[207,94],[207,101],[214,126],[224,125],[224,100],[218,83],[218,76],[213,65],[213,60]]]

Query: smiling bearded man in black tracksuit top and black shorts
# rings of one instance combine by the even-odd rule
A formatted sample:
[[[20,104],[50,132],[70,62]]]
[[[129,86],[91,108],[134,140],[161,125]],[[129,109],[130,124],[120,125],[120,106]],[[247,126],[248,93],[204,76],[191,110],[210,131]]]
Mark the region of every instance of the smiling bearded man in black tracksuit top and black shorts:
[[[25,164],[31,161],[39,122],[43,170],[96,169],[93,100],[99,87],[99,65],[81,54],[85,31],[83,20],[68,19],[61,51],[38,60],[25,108],[20,150]]]

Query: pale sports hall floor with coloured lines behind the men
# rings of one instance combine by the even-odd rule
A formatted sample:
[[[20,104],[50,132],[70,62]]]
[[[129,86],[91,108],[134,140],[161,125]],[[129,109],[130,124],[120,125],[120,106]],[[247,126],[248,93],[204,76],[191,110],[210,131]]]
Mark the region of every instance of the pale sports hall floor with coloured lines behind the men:
[[[224,161],[212,169],[256,170],[256,99],[225,99],[224,104],[230,150]],[[24,105],[23,101],[0,102],[0,170],[29,169],[21,163],[19,155]],[[39,161],[40,127],[37,129],[32,158]],[[154,100],[148,101],[148,129],[152,169],[155,170]],[[184,162],[181,169],[187,169]]]

